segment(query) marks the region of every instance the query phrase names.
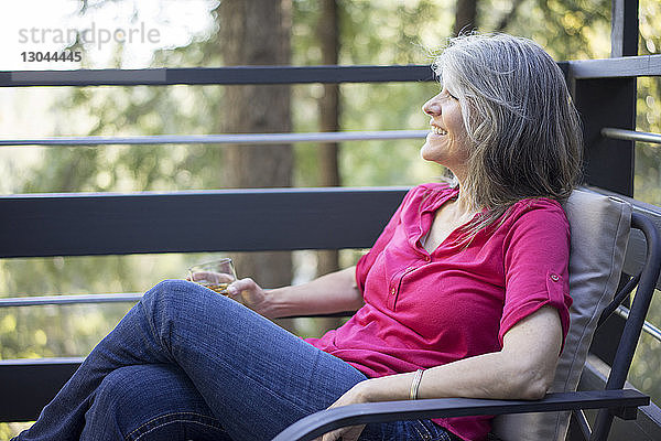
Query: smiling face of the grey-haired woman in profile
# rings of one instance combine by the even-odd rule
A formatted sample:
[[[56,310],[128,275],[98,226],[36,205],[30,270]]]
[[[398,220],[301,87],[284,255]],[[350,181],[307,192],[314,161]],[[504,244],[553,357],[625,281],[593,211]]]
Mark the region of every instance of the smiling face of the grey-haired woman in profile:
[[[431,131],[420,154],[427,161],[447,166],[459,179],[468,160],[468,135],[462,116],[459,100],[447,87],[422,106],[431,117]]]

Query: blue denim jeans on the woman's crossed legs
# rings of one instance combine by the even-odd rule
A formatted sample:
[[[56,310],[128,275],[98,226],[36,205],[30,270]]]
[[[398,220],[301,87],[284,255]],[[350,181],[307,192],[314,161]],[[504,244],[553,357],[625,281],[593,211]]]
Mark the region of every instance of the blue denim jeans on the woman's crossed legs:
[[[359,370],[197,284],[147,292],[17,440],[259,440],[330,406]],[[429,420],[361,440],[452,440]]]

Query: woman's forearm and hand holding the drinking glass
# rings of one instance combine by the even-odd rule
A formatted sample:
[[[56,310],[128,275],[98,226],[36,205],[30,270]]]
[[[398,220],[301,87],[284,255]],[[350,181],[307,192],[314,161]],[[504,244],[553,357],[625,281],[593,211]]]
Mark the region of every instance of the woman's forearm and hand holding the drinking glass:
[[[356,284],[356,267],[332,272],[295,287],[261,289],[252,279],[228,287],[230,297],[269,319],[292,315],[332,314],[362,306]]]

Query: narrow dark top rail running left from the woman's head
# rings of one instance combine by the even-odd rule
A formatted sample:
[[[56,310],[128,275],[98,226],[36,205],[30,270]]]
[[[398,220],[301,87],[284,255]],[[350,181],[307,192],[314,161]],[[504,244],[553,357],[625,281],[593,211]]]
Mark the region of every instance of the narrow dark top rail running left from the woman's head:
[[[4,71],[0,87],[431,82],[429,65]]]

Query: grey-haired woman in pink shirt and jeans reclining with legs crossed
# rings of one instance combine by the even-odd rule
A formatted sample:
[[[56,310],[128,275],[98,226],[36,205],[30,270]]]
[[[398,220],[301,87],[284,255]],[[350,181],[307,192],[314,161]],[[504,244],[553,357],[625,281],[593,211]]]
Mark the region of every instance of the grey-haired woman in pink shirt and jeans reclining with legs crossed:
[[[568,225],[579,123],[531,41],[469,35],[435,64],[422,158],[453,185],[411,190],[354,268],[230,298],[150,290],[19,440],[269,440],[327,407],[542,397],[568,326]],[[238,301],[234,301],[238,300]],[[240,303],[249,306],[245,308]],[[250,311],[253,310],[259,314]],[[264,318],[355,310],[300,340]],[[481,440],[487,417],[345,428],[343,440]]]

